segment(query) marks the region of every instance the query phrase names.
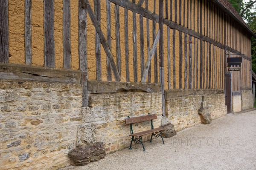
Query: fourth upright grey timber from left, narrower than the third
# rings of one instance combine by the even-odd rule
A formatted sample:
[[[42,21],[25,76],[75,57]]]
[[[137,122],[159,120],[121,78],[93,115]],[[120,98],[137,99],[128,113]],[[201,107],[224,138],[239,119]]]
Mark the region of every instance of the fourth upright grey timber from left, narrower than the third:
[[[71,68],[71,12],[70,0],[63,0],[63,68]]]

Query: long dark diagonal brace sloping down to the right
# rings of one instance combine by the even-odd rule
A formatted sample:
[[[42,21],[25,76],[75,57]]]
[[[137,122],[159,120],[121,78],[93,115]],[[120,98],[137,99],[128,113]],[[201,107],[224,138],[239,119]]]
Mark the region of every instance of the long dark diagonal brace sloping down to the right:
[[[86,3],[86,9],[87,9],[87,12],[88,12],[88,14],[90,16],[90,19],[92,20],[92,23],[93,23],[94,27],[96,28],[96,31],[97,31],[97,33],[99,35],[99,38],[100,38],[101,43],[102,43],[102,46],[103,46],[103,48],[104,48],[104,50],[105,50],[105,52],[106,52],[106,54],[108,56],[108,59],[109,59],[109,61],[111,63],[111,68],[113,70],[113,75],[115,76],[116,81],[120,81],[121,80],[120,74],[119,74],[119,72],[118,72],[118,70],[116,68],[116,63],[113,60],[113,54],[112,54],[111,50],[109,49],[108,43],[107,43],[107,41],[106,41],[106,39],[104,37],[104,34],[102,33],[102,30],[101,30],[101,28],[99,26],[99,23],[96,20],[96,17],[93,14],[93,10],[92,10],[92,8],[90,6],[90,3],[88,1]]]

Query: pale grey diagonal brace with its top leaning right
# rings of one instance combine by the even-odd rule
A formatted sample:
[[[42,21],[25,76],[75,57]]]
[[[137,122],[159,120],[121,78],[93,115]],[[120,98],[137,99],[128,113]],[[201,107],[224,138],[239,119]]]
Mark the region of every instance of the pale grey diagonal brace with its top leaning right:
[[[158,30],[157,37],[155,38],[154,43],[152,44],[152,46],[150,48],[150,51],[149,51],[149,54],[148,54],[148,59],[147,59],[147,61],[145,63],[145,67],[144,67],[144,71],[143,71],[143,76],[141,78],[141,82],[142,83],[145,83],[145,81],[146,81],[147,74],[148,74],[148,68],[149,68],[149,65],[151,63],[151,59],[153,57],[153,54],[154,54],[154,52],[155,52],[155,50],[157,48],[157,43],[159,41],[159,37],[160,37],[159,34],[160,34],[160,30]]]

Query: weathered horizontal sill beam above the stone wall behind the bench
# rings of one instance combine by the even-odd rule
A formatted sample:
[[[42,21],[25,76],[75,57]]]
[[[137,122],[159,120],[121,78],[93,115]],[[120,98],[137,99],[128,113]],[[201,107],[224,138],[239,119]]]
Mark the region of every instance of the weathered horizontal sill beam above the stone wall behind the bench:
[[[88,81],[88,93],[116,93],[127,91],[160,92],[159,84],[116,82],[116,81]]]

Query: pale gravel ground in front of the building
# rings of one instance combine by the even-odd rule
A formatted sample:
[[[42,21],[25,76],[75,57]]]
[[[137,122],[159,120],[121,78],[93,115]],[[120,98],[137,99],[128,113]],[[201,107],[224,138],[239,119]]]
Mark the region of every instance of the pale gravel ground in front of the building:
[[[62,170],[256,169],[256,110],[228,114],[211,124],[182,130],[172,138],[145,142],[85,166]]]

